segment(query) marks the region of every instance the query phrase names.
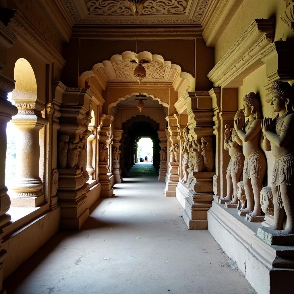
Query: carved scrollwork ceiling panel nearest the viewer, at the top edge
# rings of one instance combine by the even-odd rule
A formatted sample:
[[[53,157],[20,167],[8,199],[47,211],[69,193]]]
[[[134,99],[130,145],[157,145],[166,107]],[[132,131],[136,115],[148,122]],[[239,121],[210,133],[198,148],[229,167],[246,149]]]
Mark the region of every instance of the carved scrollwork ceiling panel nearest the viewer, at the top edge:
[[[213,0],[148,0],[138,19],[125,0],[62,0],[76,25],[201,25]]]

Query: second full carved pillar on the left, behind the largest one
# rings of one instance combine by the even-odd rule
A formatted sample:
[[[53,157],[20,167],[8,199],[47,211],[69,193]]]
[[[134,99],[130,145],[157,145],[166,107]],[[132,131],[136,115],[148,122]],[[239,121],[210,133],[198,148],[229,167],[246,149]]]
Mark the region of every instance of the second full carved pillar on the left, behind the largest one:
[[[113,196],[114,176],[109,170],[111,168],[111,122],[113,116],[101,115],[100,117],[100,141],[99,141],[99,181],[101,183],[101,197]],[[110,146],[110,147],[109,147]]]

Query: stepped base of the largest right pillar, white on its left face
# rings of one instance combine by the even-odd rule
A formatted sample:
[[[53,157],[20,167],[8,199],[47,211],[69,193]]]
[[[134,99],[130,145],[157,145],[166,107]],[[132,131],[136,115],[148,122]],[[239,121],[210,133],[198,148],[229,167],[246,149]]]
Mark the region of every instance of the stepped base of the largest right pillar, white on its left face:
[[[189,178],[192,180],[191,189],[188,197],[185,198],[183,212],[183,219],[189,230],[207,229],[207,211],[211,208],[211,202],[213,201],[213,176],[214,172],[189,173]]]

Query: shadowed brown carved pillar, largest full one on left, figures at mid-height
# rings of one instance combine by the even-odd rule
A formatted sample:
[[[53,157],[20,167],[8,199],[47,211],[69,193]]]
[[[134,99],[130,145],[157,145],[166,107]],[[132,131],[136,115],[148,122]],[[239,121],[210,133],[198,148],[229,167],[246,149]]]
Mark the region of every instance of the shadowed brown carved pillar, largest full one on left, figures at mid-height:
[[[60,227],[77,230],[89,216],[84,186],[86,170],[86,112],[92,93],[87,89],[66,88],[59,118],[59,182],[57,197],[61,207]],[[85,188],[84,188],[85,187]]]

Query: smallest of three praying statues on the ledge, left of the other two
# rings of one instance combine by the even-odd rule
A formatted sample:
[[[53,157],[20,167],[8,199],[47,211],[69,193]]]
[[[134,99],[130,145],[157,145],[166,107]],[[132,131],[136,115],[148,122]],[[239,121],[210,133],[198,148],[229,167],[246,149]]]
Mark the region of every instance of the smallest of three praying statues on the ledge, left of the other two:
[[[235,120],[238,118],[241,118],[243,121],[245,121],[245,116],[242,109],[238,110],[235,114]],[[230,129],[226,128],[223,146],[226,151],[229,151],[229,155],[231,158],[227,168],[227,196],[222,200],[231,200],[231,197],[233,195],[233,200],[228,202],[229,205],[238,204],[237,183],[240,181],[240,176],[242,174],[244,166],[244,155],[242,153],[242,146],[240,146],[235,141],[236,136],[238,135],[235,128],[233,128],[231,136]]]

